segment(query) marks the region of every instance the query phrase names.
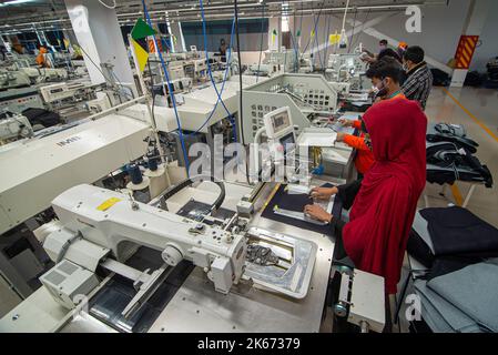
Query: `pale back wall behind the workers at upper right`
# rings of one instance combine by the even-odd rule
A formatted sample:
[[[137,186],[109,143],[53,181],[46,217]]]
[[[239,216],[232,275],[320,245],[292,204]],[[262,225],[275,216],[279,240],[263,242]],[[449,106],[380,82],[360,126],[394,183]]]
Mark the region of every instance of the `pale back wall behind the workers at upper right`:
[[[496,21],[492,16],[498,13],[498,1],[490,1],[492,3],[490,16],[487,19],[485,30],[481,34],[482,45],[476,51],[471,68],[484,71],[486,70],[486,62],[490,58],[498,55],[498,40],[496,40],[496,36],[498,33],[498,21]],[[470,1],[468,0],[451,0],[448,6],[441,4],[423,7],[421,33],[408,33],[406,31],[405,23],[408,17],[405,14],[405,10],[388,13],[360,12],[357,14],[356,20],[357,22],[367,22],[383,14],[389,16],[386,20],[374,28],[396,40],[405,41],[411,45],[420,45],[425,49],[427,55],[440,63],[446,64],[456,53],[458,41],[467,19],[469,4]],[[354,14],[349,13],[347,18],[353,20]],[[297,17],[295,21],[292,21],[291,26],[293,26],[293,22],[295,22],[295,31],[301,27],[301,49],[303,50],[309,41],[311,32],[314,28],[314,19],[312,16],[304,17],[303,19]],[[360,28],[362,26],[357,24],[356,27]],[[319,44],[328,41],[327,28],[328,33],[334,33],[335,31],[341,33],[342,16],[339,13],[334,13],[334,16],[321,16],[316,31],[316,37]],[[352,30],[352,28],[353,27],[350,24],[346,24],[346,30]],[[368,50],[373,52],[378,51],[378,39],[366,33],[362,32],[360,34],[355,36],[353,38],[353,42],[356,42],[356,44],[362,42]],[[313,49],[314,45],[316,47],[316,44],[309,44],[307,51],[309,51],[309,47]],[[334,48],[328,48],[327,53],[332,52],[334,52]],[[337,52],[344,51],[337,50]],[[322,62],[324,61],[324,54],[325,52],[321,51]],[[321,64],[318,58],[315,59],[315,64]]]

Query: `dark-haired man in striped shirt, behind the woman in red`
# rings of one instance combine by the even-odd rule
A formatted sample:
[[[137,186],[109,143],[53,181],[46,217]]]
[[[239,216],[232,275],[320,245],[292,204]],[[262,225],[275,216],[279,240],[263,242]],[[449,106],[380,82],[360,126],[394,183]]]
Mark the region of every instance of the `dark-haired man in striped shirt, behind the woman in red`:
[[[403,65],[408,78],[402,87],[405,97],[418,101],[423,110],[426,109],[427,99],[433,90],[433,73],[424,58],[425,52],[420,47],[408,47],[403,55]]]

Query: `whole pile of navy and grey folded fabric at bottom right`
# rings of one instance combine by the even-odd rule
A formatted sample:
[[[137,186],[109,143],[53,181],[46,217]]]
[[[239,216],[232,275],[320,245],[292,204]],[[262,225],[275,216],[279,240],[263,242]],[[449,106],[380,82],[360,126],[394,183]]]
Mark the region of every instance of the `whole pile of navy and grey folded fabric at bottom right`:
[[[498,230],[461,207],[417,213],[408,253],[429,268],[415,281],[436,333],[498,332]]]

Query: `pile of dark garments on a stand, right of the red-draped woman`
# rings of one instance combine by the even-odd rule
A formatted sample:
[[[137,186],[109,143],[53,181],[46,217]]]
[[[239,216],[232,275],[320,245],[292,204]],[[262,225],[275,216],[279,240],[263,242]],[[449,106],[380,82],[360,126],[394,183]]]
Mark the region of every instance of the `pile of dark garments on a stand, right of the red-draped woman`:
[[[456,181],[482,183],[492,187],[492,175],[472,154],[477,144],[464,126],[436,123],[427,129],[427,181],[453,185]]]

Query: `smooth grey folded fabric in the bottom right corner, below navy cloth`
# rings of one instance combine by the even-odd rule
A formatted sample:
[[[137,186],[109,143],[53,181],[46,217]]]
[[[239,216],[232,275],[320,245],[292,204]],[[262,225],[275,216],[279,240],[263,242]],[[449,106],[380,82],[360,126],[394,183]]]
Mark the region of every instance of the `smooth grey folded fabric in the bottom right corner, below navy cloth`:
[[[498,332],[498,260],[435,277],[427,287],[472,318],[481,328]]]

